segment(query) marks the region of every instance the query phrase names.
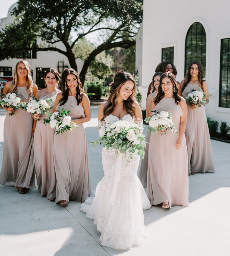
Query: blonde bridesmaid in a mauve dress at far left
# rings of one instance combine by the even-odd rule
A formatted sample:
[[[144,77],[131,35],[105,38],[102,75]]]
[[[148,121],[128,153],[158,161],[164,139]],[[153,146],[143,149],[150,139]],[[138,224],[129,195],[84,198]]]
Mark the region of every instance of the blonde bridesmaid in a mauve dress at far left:
[[[33,84],[30,65],[22,60],[16,64],[14,80],[7,83],[3,93],[16,93],[23,102],[29,102],[30,96],[38,91]],[[4,123],[3,161],[0,184],[13,182],[20,194],[27,188],[35,188],[35,170],[33,161],[33,118],[22,109],[7,108]],[[15,115],[9,116],[14,111]]]

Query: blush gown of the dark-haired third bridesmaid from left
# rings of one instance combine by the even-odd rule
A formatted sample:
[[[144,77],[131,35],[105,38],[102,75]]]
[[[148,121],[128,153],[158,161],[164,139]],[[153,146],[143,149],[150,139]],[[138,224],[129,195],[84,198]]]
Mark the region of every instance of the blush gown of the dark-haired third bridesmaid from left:
[[[62,108],[70,110],[71,119],[84,116],[84,108],[77,105],[75,96],[69,96]],[[62,200],[84,202],[87,195],[90,195],[87,138],[83,124],[79,123],[78,126],[76,130],[54,136],[57,203]]]

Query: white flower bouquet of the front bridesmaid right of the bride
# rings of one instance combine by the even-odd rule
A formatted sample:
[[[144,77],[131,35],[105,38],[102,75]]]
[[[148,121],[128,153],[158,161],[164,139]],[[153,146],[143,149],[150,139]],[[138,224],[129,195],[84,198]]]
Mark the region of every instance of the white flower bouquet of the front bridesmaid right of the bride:
[[[167,111],[161,111],[160,113],[156,111],[152,112],[155,112],[155,115],[145,119],[145,122],[149,124],[148,132],[153,131],[153,134],[155,134],[157,131],[162,131],[161,135],[167,135],[167,131],[170,130],[172,133],[177,133],[172,122],[172,113]]]

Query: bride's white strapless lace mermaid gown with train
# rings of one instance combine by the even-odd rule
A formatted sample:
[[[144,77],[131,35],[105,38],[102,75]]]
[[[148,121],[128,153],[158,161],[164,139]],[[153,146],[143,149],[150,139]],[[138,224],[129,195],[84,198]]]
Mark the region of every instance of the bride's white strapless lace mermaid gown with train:
[[[132,121],[128,114],[122,120]],[[114,123],[118,118],[108,115],[103,125]],[[81,211],[86,217],[94,219],[97,230],[101,233],[102,246],[118,250],[139,246],[145,234],[143,209],[151,207],[140,180],[137,168],[140,157],[135,153],[127,164],[127,156],[122,154],[120,181],[115,183],[115,166],[117,157],[114,150],[102,150],[104,177],[97,185],[94,197],[88,197],[82,204]],[[115,187],[115,190],[114,190]],[[112,194],[114,193],[114,197]]]

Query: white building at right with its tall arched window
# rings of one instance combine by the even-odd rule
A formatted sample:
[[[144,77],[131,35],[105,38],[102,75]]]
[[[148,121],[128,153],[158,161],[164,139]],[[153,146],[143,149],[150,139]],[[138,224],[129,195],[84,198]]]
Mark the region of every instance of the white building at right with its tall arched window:
[[[230,126],[229,9],[229,0],[144,0],[143,24],[136,42],[143,109],[158,63],[171,58],[181,81],[189,64],[198,60],[212,94],[206,115]]]

